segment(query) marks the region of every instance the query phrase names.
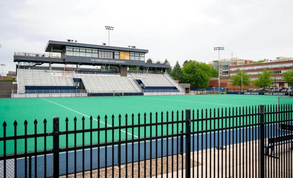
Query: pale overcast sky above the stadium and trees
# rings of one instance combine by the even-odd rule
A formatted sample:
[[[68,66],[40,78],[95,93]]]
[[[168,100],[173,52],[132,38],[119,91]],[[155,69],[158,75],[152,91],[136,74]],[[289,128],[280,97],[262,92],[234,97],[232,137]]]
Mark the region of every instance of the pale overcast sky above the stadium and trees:
[[[293,1],[0,1],[0,63],[15,71],[13,52],[44,53],[48,40],[148,49],[146,58],[293,57]],[[2,68],[0,68],[2,72]]]

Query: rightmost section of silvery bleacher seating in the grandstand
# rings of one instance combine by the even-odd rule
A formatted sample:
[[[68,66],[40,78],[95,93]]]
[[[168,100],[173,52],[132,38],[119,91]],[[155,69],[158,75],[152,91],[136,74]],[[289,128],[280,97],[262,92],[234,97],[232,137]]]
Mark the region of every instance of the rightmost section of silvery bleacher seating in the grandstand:
[[[132,77],[139,79],[146,87],[174,87],[174,84],[164,74],[131,73]]]

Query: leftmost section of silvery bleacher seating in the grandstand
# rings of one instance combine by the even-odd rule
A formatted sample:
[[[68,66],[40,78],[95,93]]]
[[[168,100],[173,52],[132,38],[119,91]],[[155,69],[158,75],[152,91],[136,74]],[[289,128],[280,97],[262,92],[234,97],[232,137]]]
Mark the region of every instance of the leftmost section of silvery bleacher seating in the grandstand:
[[[25,86],[74,86],[71,77],[62,77],[63,71],[18,70],[23,70]],[[70,72],[66,72],[65,75],[70,75]]]

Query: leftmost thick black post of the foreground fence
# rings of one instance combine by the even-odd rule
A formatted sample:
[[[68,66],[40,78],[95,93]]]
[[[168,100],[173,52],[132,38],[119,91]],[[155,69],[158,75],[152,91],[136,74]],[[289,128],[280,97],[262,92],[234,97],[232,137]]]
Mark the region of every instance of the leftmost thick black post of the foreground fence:
[[[53,117],[53,177],[59,177],[59,117]],[[68,166],[68,165],[67,165]]]

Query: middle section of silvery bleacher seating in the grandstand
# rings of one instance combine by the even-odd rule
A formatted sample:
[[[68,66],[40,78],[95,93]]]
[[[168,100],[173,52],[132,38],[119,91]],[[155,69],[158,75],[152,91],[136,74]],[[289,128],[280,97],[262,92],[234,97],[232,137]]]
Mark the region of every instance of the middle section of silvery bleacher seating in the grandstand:
[[[132,77],[121,77],[115,74],[77,74],[85,88],[92,93],[138,93],[141,88]]]

